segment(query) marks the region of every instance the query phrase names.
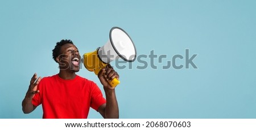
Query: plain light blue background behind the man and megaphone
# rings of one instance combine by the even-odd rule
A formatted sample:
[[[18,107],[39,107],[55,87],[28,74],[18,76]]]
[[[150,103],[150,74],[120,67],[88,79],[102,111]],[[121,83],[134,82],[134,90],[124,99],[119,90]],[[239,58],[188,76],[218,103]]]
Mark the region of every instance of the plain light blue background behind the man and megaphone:
[[[249,0],[1,1],[0,118],[42,118],[42,107],[23,114],[21,102],[35,72],[59,72],[56,42],[71,39],[87,53],[104,45],[114,26],[129,33],[138,55],[167,55],[155,59],[156,70],[148,57],[144,70],[138,60],[116,69],[120,118],[256,118],[255,7]],[[197,69],[162,69],[185,49],[197,54]],[[84,67],[77,74],[100,85]],[[90,110],[88,118],[101,116]]]

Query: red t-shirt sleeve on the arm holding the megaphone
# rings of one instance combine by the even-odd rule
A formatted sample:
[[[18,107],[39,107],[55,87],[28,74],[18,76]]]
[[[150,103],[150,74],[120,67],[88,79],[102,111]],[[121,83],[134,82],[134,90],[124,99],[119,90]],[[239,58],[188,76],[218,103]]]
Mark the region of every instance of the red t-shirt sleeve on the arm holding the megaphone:
[[[98,108],[106,103],[106,99],[103,97],[102,92],[100,88],[98,88],[98,85],[95,83],[92,83],[92,95],[90,100],[90,107],[92,107],[94,110],[98,111]]]

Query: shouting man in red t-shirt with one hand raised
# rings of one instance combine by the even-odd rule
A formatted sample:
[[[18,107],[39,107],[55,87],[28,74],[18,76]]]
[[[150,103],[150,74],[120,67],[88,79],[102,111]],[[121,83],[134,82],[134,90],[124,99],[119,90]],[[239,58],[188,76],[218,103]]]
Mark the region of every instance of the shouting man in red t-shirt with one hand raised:
[[[119,79],[109,65],[98,73],[106,98],[98,86],[76,75],[80,70],[79,50],[71,40],[61,40],[52,50],[52,57],[59,64],[58,74],[48,77],[32,76],[22,110],[28,114],[42,105],[43,118],[87,118],[89,109],[100,112],[103,118],[119,118],[115,89],[108,80]]]

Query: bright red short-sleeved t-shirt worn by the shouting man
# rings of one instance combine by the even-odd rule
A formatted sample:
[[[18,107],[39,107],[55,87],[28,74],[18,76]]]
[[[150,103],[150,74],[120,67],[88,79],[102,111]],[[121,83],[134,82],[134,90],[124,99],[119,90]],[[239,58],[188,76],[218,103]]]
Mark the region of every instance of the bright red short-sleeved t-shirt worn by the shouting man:
[[[32,104],[43,107],[43,118],[87,118],[89,109],[106,103],[100,88],[90,80],[76,75],[64,80],[59,75],[44,77],[38,84]]]

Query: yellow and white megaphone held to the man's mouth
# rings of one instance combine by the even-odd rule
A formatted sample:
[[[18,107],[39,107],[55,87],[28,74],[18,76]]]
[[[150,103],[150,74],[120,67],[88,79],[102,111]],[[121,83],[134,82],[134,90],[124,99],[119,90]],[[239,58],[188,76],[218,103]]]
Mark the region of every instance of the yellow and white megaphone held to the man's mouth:
[[[130,36],[119,27],[113,27],[109,32],[109,40],[102,47],[95,51],[84,54],[84,66],[87,70],[93,71],[96,75],[113,60],[122,58],[126,62],[133,62],[136,59],[136,49]],[[109,81],[112,87],[117,86],[119,80],[114,78]]]

